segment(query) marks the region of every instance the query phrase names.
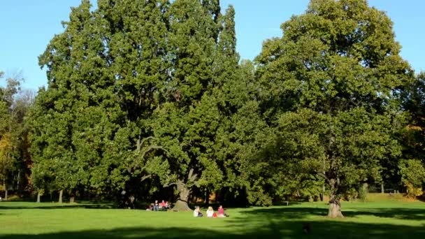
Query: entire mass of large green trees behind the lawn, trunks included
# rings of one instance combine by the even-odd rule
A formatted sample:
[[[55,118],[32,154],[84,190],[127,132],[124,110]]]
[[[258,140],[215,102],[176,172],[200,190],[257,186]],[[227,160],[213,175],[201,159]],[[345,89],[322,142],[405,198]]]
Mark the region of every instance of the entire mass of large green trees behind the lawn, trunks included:
[[[424,75],[366,0],[312,0],[240,61],[219,0],[88,0],[39,57],[48,87],[27,117],[43,191],[254,205],[365,184],[422,193]],[[9,109],[11,109],[9,107]]]

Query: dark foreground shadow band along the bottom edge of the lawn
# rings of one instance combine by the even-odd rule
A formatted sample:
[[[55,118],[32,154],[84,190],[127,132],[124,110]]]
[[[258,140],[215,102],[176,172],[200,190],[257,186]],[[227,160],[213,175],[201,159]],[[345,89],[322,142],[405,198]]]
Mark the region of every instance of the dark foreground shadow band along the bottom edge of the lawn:
[[[272,220],[251,231],[236,231],[226,233],[205,229],[164,228],[152,229],[146,227],[123,228],[113,230],[92,230],[61,233],[46,233],[40,235],[6,235],[4,239],[118,239],[118,238],[185,238],[185,239],[214,239],[214,238],[370,238],[398,239],[424,238],[425,228],[415,226],[397,226],[392,224],[357,224],[352,222],[312,222],[312,231],[305,235],[301,222],[273,222]]]

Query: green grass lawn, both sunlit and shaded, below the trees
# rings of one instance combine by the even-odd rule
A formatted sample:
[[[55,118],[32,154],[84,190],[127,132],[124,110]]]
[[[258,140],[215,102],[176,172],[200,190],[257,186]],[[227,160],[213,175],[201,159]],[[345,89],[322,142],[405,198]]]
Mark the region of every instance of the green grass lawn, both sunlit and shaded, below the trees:
[[[0,238],[425,238],[425,203],[344,203],[345,219],[324,203],[229,209],[228,218],[192,212],[108,209],[108,205],[0,202]],[[303,222],[312,232],[305,235]]]

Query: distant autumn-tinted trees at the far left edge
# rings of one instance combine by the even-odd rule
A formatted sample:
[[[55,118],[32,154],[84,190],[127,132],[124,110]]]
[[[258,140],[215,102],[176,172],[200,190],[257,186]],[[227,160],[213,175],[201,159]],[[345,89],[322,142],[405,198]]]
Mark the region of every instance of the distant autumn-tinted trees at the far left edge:
[[[31,191],[31,156],[29,154],[29,127],[24,122],[34,101],[34,92],[23,90],[20,73],[5,75],[0,79],[0,182],[4,199],[8,190]]]

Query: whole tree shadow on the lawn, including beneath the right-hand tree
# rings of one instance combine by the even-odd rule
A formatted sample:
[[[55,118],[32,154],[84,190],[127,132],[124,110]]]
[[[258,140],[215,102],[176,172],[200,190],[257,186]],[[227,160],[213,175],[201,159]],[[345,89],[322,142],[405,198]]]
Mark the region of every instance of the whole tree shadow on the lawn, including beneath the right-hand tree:
[[[331,220],[318,217],[310,221],[311,233],[303,233],[302,225],[308,222],[308,216],[324,216],[324,208],[258,208],[240,212],[242,215],[223,219],[222,228],[191,229],[191,225],[182,227],[149,228],[133,227],[110,230],[88,230],[59,233],[44,233],[39,235],[1,235],[4,239],[118,239],[118,238],[184,238],[184,239],[250,239],[250,238],[359,238],[359,239],[399,239],[425,238],[425,224],[422,226],[405,226],[396,224],[366,224],[348,222],[346,219]],[[423,210],[407,208],[356,208],[356,211],[344,212],[346,217],[374,215],[376,217],[425,220]],[[199,224],[208,224],[208,220],[200,218]],[[217,219],[220,220],[220,219]],[[143,224],[143,222],[141,222]],[[164,222],[166,225],[166,222]]]

